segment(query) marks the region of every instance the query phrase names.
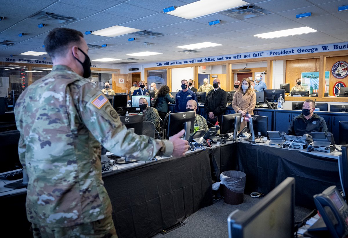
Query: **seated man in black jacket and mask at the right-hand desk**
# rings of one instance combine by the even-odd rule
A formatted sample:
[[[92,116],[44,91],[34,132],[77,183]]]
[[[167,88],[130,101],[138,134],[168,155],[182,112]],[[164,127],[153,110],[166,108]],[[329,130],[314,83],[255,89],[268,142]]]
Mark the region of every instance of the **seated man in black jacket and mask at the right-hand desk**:
[[[304,101],[302,113],[292,119],[288,133],[289,135],[303,136],[311,132],[329,132],[324,118],[314,113],[315,102],[311,99]]]

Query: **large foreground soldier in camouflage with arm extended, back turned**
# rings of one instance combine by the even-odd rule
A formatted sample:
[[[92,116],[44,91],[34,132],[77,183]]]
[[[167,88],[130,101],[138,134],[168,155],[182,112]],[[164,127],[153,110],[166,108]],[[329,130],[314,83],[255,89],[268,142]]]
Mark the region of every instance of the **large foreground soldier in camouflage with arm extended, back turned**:
[[[138,136],[120,122],[92,83],[88,46],[79,31],[56,28],[45,49],[53,70],[19,96],[19,159],[29,176],[27,219],[34,237],[117,237],[101,174],[101,147],[118,156],[151,160],[180,156],[188,142]],[[83,76],[83,77],[81,77]]]

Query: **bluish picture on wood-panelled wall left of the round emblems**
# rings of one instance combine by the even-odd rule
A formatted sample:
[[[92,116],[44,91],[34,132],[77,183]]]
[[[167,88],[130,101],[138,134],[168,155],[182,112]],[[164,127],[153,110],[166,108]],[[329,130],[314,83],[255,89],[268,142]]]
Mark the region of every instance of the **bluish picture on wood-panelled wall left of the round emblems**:
[[[301,72],[302,86],[309,93],[319,92],[319,71],[317,72]],[[329,92],[330,71],[325,71],[325,89],[324,92]]]

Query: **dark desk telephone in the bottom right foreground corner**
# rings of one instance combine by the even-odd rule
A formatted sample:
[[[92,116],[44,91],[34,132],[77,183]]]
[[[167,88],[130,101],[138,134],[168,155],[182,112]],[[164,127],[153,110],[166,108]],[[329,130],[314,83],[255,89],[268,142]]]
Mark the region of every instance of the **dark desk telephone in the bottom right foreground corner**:
[[[336,186],[330,186],[314,195],[314,202],[327,229],[334,238],[348,235],[348,205]]]

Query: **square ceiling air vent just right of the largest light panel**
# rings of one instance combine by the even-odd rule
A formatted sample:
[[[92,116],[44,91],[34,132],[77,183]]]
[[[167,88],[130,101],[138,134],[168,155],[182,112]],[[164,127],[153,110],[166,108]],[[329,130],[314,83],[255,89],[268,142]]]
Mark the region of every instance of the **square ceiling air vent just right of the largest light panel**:
[[[270,11],[267,11],[255,5],[247,5],[244,7],[238,7],[235,9],[230,9],[230,10],[222,12],[222,14],[225,14],[227,16],[234,17],[240,20],[249,19],[249,18],[257,17],[257,16],[263,16],[270,13],[271,13]]]

